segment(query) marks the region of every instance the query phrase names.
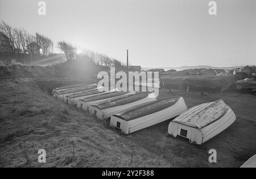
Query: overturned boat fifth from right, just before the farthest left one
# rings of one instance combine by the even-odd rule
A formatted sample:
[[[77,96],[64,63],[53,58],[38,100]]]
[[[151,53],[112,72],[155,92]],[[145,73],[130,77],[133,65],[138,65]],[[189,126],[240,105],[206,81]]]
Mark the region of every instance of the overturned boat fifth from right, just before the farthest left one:
[[[67,102],[69,105],[77,105],[77,102],[79,101],[79,99],[90,97],[94,94],[101,94],[101,93],[109,93],[109,92],[102,91],[100,90],[100,88],[87,90],[80,93],[74,93],[74,94],[65,96],[65,102]]]

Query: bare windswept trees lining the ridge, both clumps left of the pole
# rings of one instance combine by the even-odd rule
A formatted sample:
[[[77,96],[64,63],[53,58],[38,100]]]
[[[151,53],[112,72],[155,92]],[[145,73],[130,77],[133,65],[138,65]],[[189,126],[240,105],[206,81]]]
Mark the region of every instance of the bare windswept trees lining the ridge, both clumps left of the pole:
[[[61,52],[65,53],[67,61],[88,61],[100,66],[115,66],[116,68],[125,68],[125,64],[119,60],[112,59],[102,53],[97,53],[89,50],[80,50],[67,41],[59,41],[57,43]],[[23,59],[32,62],[32,59],[40,59],[50,54],[53,48],[53,42],[50,38],[36,33],[29,34],[24,28],[13,28],[5,22],[0,23],[0,56],[7,52],[7,57],[12,55],[21,63],[20,55]],[[6,56],[5,56],[6,57]],[[3,57],[3,58],[5,58]],[[39,58],[38,58],[39,57]],[[1,60],[0,59],[0,60]],[[10,57],[7,59],[11,59]]]

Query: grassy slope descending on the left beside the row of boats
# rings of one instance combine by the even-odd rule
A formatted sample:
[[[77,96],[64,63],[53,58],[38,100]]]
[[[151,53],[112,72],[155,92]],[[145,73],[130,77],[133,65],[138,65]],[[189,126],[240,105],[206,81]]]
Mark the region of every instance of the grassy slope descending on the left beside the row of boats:
[[[44,93],[35,81],[47,78],[40,78],[44,74],[56,76],[52,68],[1,66],[5,79],[0,80],[0,166],[172,166],[101,121]],[[46,164],[38,163],[39,149],[46,150]]]

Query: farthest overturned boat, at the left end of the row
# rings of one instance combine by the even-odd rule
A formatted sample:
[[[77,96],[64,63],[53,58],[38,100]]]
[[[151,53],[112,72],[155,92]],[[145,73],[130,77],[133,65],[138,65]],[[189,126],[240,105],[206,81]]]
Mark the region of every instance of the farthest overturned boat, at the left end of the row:
[[[97,85],[92,84],[92,85],[80,86],[77,88],[70,88],[70,89],[55,91],[54,97],[61,99],[63,101],[66,101],[66,99],[65,99],[66,95],[71,95],[71,94],[75,94],[75,93],[79,93],[79,92],[87,91],[87,90],[92,90],[92,89],[97,89]]]

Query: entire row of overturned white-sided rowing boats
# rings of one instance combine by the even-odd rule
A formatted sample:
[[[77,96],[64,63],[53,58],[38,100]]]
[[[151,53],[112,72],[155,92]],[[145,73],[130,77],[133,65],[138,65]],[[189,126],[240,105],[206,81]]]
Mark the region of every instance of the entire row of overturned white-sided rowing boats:
[[[236,120],[233,110],[220,99],[187,108],[183,97],[157,99],[154,93],[99,90],[97,84],[75,84],[53,89],[53,96],[87,111],[95,118],[110,119],[110,127],[123,134],[172,119],[168,134],[203,144]]]

